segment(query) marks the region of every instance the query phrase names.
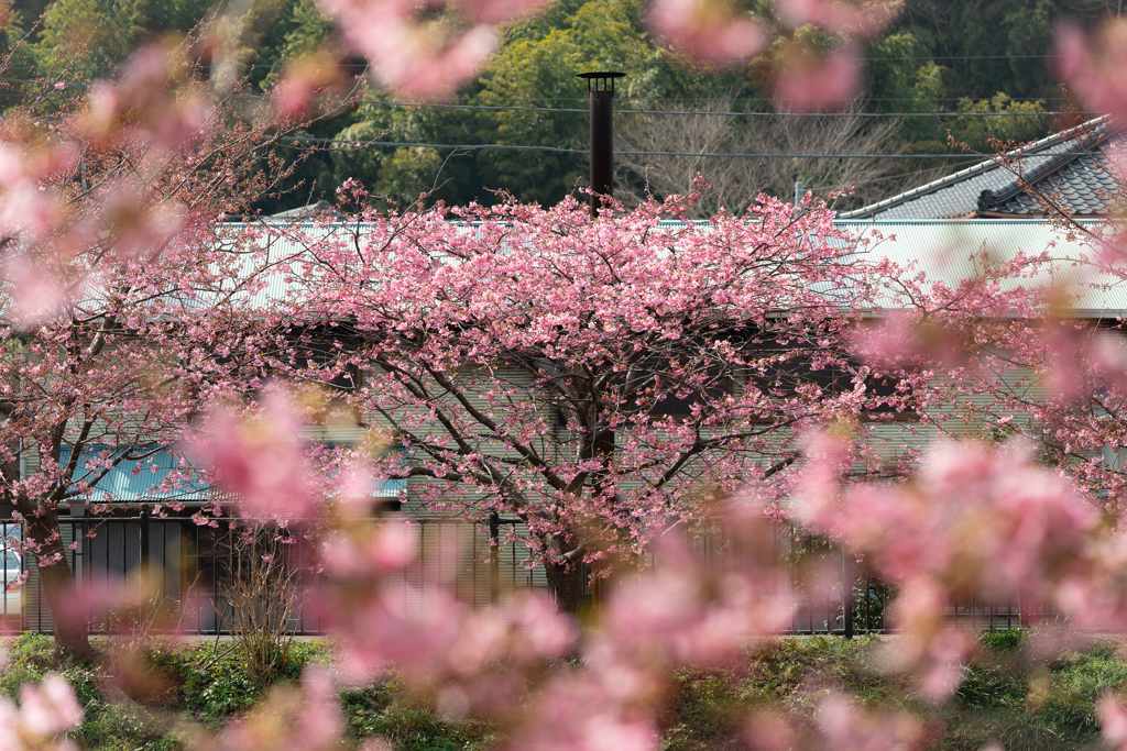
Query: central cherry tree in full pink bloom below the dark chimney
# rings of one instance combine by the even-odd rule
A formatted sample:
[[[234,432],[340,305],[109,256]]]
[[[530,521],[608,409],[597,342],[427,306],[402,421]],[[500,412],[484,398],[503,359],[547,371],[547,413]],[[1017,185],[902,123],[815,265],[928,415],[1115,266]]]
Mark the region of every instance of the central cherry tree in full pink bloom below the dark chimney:
[[[822,203],[662,224],[691,200],[264,231],[307,249],[301,312],[348,330],[328,367],[360,372],[346,401],[397,449],[372,471],[421,480],[432,507],[518,518],[566,610],[580,563],[637,561],[672,520],[786,477],[797,428],[903,409],[843,355],[871,278]]]

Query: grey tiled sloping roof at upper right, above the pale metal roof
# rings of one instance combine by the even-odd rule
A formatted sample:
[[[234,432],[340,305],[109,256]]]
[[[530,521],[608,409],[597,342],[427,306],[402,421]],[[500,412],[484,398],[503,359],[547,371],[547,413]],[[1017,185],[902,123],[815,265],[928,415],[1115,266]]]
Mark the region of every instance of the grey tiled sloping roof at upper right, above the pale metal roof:
[[[941,220],[976,212],[1032,216],[1044,213],[1029,190],[1066,202],[1075,216],[1104,216],[1116,180],[1104,149],[1127,146],[1122,126],[1108,118],[1035,141],[1006,159],[988,159],[838,218]],[[979,214],[983,215],[983,214]]]

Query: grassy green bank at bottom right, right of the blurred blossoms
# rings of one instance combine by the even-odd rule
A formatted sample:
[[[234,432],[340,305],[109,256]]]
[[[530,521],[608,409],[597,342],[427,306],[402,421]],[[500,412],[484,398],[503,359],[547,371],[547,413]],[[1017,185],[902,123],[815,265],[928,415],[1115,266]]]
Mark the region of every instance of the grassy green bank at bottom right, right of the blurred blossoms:
[[[834,689],[871,707],[917,715],[929,749],[979,751],[991,742],[1022,751],[1099,748],[1095,703],[1127,689],[1127,660],[1110,644],[1030,664],[1018,632],[986,634],[951,699],[929,701],[915,683],[879,670],[876,638],[791,638],[764,644],[724,670],[677,676],[663,716],[665,751],[740,748],[743,717],[757,707],[809,721]]]

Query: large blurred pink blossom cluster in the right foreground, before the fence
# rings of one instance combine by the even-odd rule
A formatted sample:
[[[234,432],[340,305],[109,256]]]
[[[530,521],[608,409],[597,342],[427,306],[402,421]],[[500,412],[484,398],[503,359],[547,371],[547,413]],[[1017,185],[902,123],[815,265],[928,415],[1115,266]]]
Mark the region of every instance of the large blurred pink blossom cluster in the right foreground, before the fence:
[[[915,482],[855,488],[832,479],[840,456],[825,448],[815,456],[798,518],[896,582],[900,594],[889,619],[904,633],[890,647],[890,664],[920,673],[931,696],[958,687],[958,665],[974,645],[971,634],[944,624],[956,601],[1013,596],[1077,606],[1097,597],[1088,584],[1099,569],[1099,511],[1038,466],[1029,447],[942,442]]]

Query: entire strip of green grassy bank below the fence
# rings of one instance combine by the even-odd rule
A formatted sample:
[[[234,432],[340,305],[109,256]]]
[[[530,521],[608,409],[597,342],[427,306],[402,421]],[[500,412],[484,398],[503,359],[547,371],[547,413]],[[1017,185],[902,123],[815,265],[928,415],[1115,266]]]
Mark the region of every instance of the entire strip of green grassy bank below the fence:
[[[929,728],[929,749],[978,751],[991,742],[1006,749],[1098,749],[1095,704],[1127,690],[1127,659],[1110,643],[1058,656],[1028,659],[1017,632],[983,636],[983,649],[949,700],[929,701],[912,680],[879,670],[877,638],[787,638],[749,649],[729,664],[686,669],[673,680],[659,715],[664,751],[736,751],[745,717],[757,708],[783,709],[809,722],[818,695],[838,690],[872,707],[917,715]],[[21,636],[9,645],[0,692],[11,697],[27,681],[63,674],[86,708],[73,740],[82,749],[178,751],[188,724],[220,727],[260,696],[234,652],[212,644],[157,646],[144,655],[144,681],[126,681],[123,694],[105,680],[125,668],[105,659],[82,663],[59,658],[51,641]],[[301,643],[281,681],[304,664],[328,661],[322,643]],[[503,733],[481,721],[454,722],[403,691],[396,680],[341,692],[349,745],[370,735],[398,751],[491,751]]]

